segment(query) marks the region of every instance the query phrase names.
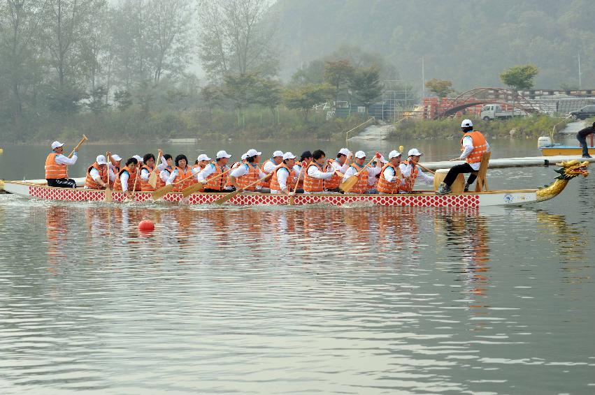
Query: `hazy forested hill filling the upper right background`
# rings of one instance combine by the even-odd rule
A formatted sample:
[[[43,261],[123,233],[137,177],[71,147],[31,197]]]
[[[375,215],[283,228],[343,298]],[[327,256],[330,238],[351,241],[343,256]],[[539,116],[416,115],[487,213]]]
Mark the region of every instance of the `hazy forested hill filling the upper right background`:
[[[378,52],[416,86],[457,91],[502,86],[499,74],[532,63],[536,88],[595,88],[593,0],[278,0],[282,76],[342,45]]]

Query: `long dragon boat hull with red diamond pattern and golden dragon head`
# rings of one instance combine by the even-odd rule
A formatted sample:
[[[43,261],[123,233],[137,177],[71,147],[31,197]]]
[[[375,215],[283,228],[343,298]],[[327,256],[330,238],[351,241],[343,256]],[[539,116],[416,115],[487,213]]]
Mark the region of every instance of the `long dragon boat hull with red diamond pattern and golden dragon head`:
[[[451,195],[438,196],[434,191],[415,191],[410,194],[396,195],[350,195],[350,194],[305,194],[295,195],[293,204],[331,204],[342,206],[364,202],[379,206],[408,206],[408,207],[484,207],[484,206],[506,206],[529,204],[550,200],[566,188],[568,181],[583,176],[587,177],[589,172],[588,161],[578,160],[557,163],[559,173],[554,182],[549,186],[539,189],[519,189],[501,191],[466,192]],[[20,195],[24,198],[41,200],[69,201],[69,202],[101,202],[105,200],[105,191],[84,189],[84,188],[55,188],[41,182],[31,181],[4,181],[4,189],[8,193]],[[180,202],[182,204],[213,204],[215,200],[222,198],[225,193],[193,193],[182,198],[182,193],[171,192],[161,199],[165,202]],[[152,193],[138,192],[131,198],[136,202],[153,202]],[[122,192],[113,192],[113,202],[131,201]],[[159,200],[159,201],[161,201]],[[287,205],[287,195],[275,195],[268,193],[240,193],[231,198],[226,204],[235,205],[259,205],[276,204]]]

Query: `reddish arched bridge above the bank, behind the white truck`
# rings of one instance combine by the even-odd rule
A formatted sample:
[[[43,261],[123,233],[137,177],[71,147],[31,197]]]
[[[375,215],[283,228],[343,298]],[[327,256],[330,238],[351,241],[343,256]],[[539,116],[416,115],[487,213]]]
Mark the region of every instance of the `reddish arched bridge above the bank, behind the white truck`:
[[[457,112],[473,107],[475,105],[484,104],[506,104],[513,108],[523,110],[525,112],[538,112],[538,108],[533,107],[531,102],[524,96],[521,96],[517,91],[504,88],[475,88],[471,91],[466,91],[452,99],[446,107],[443,107],[434,115],[433,119],[441,117],[449,117],[457,114]]]

